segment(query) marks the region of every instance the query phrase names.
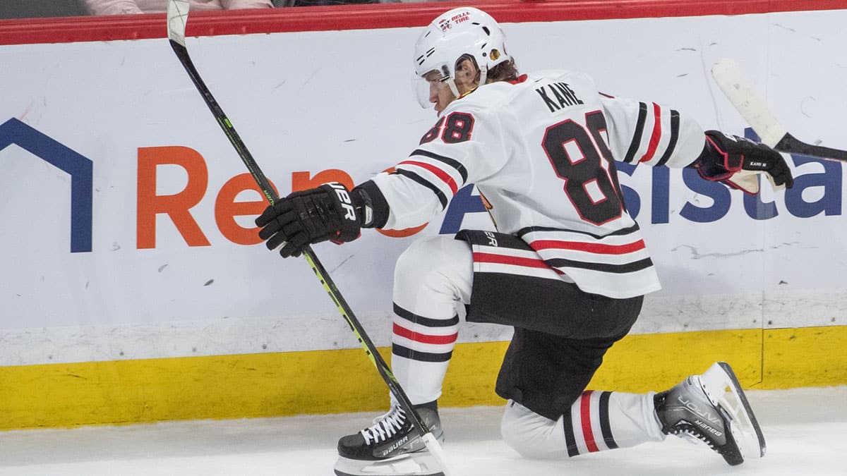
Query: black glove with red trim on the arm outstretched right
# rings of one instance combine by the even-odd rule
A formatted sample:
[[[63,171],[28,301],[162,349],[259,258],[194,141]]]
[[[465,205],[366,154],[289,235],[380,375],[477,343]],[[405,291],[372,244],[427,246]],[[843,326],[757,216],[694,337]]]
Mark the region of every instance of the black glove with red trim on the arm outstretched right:
[[[774,190],[794,185],[791,169],[779,152],[719,130],[706,130],[706,147],[694,166],[706,180],[721,181],[754,195],[759,192],[757,174],[766,174]]]

